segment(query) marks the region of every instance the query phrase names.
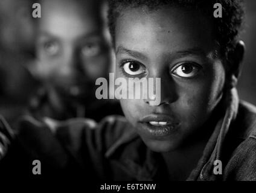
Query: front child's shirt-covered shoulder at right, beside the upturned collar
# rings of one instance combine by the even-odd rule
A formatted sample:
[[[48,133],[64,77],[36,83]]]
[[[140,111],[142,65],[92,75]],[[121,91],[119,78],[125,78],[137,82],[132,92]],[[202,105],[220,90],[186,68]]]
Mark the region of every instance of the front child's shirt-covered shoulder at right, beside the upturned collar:
[[[226,165],[224,179],[256,180],[256,107],[241,101],[232,130],[232,142],[238,145]]]

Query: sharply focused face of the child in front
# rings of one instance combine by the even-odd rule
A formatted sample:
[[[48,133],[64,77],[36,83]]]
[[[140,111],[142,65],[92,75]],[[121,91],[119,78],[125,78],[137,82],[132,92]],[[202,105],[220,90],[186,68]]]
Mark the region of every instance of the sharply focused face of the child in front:
[[[184,145],[222,98],[225,69],[214,58],[211,23],[183,8],[133,8],[115,29],[117,77],[161,78],[161,104],[121,100],[126,118],[155,151]]]

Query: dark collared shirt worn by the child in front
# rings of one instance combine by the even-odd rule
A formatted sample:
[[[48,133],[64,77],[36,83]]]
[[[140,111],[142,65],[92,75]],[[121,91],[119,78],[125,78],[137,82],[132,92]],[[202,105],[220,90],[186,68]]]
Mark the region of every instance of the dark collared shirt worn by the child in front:
[[[217,122],[187,180],[256,180],[256,108],[238,103],[235,89],[227,95],[226,104],[225,116]],[[88,119],[37,122],[27,117],[14,141],[26,158],[21,161],[19,156],[18,169],[22,171],[18,174],[32,175],[32,160],[38,159],[45,175],[79,175],[90,180],[168,179],[161,154],[149,150],[121,116],[108,117],[100,124]],[[17,157],[15,148],[11,150]],[[10,165],[9,157],[5,156],[2,168]],[[222,162],[222,174],[214,174],[215,160]],[[18,169],[13,169],[17,174]]]

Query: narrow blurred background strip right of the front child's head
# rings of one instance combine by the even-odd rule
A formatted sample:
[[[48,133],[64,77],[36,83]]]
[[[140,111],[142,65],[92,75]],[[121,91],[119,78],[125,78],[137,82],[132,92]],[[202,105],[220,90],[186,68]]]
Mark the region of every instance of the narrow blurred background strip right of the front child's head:
[[[242,40],[246,44],[243,72],[238,82],[242,100],[256,105],[256,1],[245,0],[246,21]]]

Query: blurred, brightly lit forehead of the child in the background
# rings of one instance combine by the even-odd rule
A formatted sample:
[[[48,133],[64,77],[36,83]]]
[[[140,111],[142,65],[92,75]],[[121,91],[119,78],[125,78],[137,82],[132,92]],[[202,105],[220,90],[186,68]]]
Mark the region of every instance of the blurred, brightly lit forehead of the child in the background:
[[[82,36],[100,31],[100,9],[92,8],[92,2],[44,0],[39,31],[55,36]]]

